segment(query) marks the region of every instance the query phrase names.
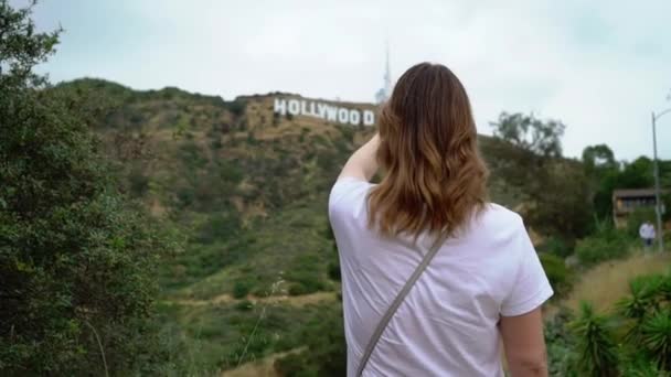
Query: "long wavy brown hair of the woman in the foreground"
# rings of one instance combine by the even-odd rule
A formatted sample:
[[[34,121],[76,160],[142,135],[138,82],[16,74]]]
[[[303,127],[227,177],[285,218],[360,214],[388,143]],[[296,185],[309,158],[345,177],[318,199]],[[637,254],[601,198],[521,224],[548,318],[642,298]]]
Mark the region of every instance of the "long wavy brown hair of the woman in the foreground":
[[[369,195],[370,225],[387,236],[454,236],[487,203],[488,171],[466,89],[440,64],[401,76],[380,111],[377,162],[385,171]]]

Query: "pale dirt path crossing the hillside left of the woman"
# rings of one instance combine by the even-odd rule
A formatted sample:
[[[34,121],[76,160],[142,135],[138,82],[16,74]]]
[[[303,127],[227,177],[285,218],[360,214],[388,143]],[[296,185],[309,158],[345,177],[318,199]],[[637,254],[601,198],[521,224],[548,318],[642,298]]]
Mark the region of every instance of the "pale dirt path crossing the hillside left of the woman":
[[[295,306],[305,306],[308,304],[318,303],[321,301],[331,301],[336,300],[336,292],[316,292],[310,294],[302,295],[270,295],[267,298],[257,298],[253,295],[248,295],[246,298],[247,301],[253,304],[278,304],[278,303],[288,303]],[[202,305],[221,305],[221,304],[230,304],[234,302],[242,302],[244,300],[238,300],[233,298],[231,294],[220,294],[209,300],[192,300],[192,299],[175,299],[175,300],[164,300],[164,303],[172,303],[184,306],[202,306]]]

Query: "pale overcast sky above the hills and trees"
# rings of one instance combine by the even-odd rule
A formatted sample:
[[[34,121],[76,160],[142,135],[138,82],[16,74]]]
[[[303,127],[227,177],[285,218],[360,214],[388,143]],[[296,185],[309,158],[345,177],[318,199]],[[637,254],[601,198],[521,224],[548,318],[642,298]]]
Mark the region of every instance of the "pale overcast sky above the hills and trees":
[[[372,101],[388,40],[393,78],[443,63],[469,91],[480,132],[501,111],[533,111],[567,125],[572,157],[596,143],[620,160],[651,155],[650,112],[671,107],[669,0],[42,0],[34,15],[43,30],[65,29],[41,67],[54,82],[228,100],[281,90]],[[658,129],[671,159],[671,114]]]

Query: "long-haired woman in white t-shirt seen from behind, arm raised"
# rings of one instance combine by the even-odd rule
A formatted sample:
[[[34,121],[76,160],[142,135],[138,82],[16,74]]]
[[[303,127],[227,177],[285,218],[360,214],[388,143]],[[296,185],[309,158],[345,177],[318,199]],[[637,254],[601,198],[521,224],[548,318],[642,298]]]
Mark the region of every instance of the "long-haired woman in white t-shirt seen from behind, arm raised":
[[[553,291],[521,217],[487,202],[486,180],[459,79],[443,65],[409,68],[329,197],[349,376],[503,376],[501,343],[512,376],[547,374],[540,306]]]

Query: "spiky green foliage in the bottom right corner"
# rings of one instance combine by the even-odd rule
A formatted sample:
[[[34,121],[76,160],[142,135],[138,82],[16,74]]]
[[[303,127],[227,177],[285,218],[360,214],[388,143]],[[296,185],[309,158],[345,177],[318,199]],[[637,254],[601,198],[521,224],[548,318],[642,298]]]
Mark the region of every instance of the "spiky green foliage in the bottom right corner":
[[[583,303],[568,342],[554,333],[546,336],[551,366],[575,344],[579,359],[574,365],[593,376],[671,375],[671,273],[641,276],[629,287],[630,294],[615,305],[616,316],[596,314]]]

